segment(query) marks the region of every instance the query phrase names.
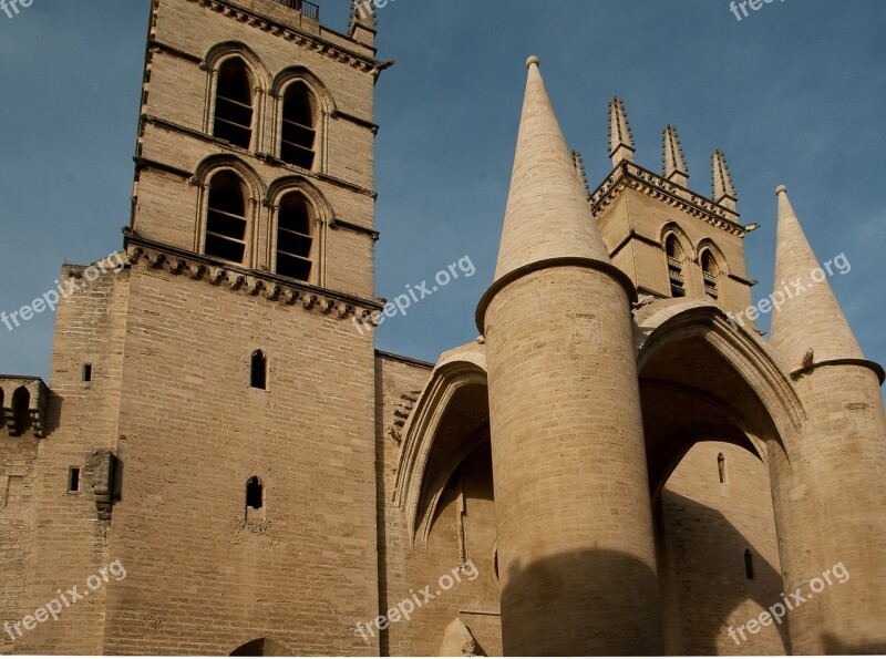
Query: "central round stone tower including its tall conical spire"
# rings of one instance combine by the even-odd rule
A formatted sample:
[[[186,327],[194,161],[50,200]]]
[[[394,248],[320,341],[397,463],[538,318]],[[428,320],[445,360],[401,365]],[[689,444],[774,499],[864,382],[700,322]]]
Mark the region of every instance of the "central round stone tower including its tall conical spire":
[[[660,655],[633,286],[609,260],[538,59],[527,65],[495,281],[477,309],[504,653]]]

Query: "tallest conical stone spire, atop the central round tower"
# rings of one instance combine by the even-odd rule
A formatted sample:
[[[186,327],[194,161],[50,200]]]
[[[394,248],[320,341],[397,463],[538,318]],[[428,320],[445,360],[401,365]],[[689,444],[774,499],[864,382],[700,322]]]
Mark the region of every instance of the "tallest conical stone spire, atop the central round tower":
[[[527,66],[496,281],[522,266],[549,258],[609,262],[587,192],[545,91],[538,58],[529,58]]]

